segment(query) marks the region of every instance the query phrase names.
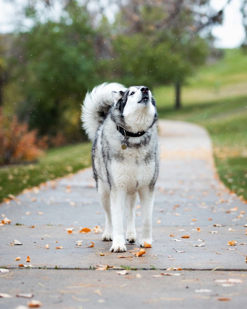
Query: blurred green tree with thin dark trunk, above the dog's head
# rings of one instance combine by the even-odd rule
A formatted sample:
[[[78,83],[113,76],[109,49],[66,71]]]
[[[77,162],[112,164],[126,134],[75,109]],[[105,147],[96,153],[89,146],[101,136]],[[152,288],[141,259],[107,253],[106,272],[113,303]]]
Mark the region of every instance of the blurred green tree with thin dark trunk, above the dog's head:
[[[127,84],[173,83],[179,108],[181,85],[208,54],[200,31],[221,23],[222,11],[209,10],[209,0],[129,0],[119,7],[112,36],[116,76]]]

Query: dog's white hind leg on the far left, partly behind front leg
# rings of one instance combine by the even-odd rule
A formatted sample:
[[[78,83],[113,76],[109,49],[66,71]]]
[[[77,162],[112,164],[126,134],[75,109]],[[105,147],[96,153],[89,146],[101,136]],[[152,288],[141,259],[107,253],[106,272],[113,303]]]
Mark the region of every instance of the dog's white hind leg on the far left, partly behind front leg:
[[[111,203],[110,203],[110,194],[105,188],[105,185],[102,180],[98,180],[98,196],[101,205],[105,210],[106,217],[106,227],[105,231],[101,237],[103,241],[112,240],[112,222],[111,222]]]

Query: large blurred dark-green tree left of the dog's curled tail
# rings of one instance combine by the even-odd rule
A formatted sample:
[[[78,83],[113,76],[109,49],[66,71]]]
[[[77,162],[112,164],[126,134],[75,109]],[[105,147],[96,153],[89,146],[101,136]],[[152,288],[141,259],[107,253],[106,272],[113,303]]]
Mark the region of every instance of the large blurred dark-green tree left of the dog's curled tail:
[[[63,132],[71,140],[81,137],[79,104],[98,78],[90,16],[76,1],[70,1],[65,11],[59,22],[36,20],[16,40],[24,97],[18,109],[40,134]]]

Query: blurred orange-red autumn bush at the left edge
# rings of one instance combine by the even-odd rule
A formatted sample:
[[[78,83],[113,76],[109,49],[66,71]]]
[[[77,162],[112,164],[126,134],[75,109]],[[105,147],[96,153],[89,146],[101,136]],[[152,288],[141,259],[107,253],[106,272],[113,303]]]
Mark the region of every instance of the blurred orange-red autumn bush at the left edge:
[[[36,130],[29,131],[26,123],[0,109],[0,165],[34,161],[47,146],[46,137],[38,138]]]

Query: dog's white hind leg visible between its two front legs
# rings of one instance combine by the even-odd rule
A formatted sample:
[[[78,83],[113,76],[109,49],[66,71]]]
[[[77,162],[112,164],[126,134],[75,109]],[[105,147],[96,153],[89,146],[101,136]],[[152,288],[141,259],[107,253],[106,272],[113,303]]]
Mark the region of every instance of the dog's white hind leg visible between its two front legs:
[[[129,243],[136,241],[136,228],[135,228],[135,207],[136,207],[137,193],[128,195],[126,199],[127,206],[127,231],[126,239]]]

